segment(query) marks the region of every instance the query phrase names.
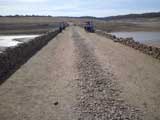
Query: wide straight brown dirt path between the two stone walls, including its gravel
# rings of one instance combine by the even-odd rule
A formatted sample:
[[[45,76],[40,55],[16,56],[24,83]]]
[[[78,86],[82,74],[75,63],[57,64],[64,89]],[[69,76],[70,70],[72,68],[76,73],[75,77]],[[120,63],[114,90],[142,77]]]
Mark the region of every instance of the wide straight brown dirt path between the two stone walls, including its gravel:
[[[69,27],[0,86],[0,120],[160,119],[160,63]]]

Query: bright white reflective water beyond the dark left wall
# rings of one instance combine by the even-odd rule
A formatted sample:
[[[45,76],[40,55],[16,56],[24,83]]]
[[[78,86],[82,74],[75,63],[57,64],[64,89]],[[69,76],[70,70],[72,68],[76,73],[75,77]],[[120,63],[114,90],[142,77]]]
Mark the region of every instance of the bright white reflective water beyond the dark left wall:
[[[0,47],[11,47],[16,46],[19,43],[25,42],[26,39],[33,39],[35,37],[38,37],[39,35],[9,35],[9,36],[0,36]],[[23,42],[20,42],[20,40],[23,39]]]

